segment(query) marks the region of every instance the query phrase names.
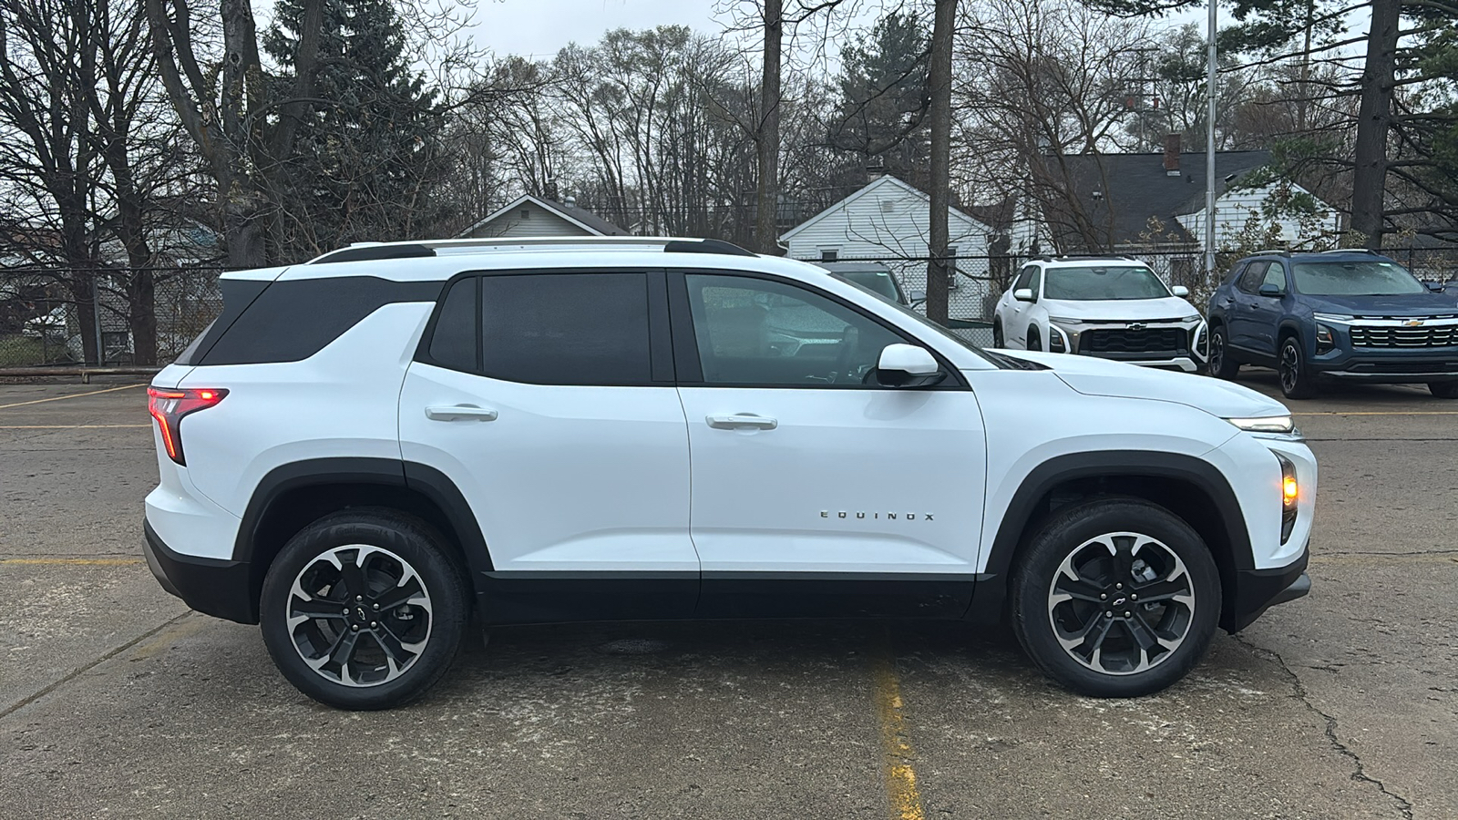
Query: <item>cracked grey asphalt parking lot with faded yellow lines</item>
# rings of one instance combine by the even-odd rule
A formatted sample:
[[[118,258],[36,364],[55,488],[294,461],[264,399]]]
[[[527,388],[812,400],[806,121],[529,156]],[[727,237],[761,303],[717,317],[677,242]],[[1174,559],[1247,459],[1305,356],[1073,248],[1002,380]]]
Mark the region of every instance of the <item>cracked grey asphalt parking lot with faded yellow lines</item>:
[[[346,713],[153,581],[140,387],[0,385],[0,817],[1458,817],[1458,401],[1293,409],[1312,595],[1159,696],[956,624],[593,624]]]

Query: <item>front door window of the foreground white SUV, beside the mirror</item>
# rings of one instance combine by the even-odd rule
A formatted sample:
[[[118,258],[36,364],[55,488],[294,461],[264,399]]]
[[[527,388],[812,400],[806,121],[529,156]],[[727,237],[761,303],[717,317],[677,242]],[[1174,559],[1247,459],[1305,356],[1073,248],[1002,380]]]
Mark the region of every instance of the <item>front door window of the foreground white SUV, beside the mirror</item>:
[[[738,276],[684,279],[709,384],[862,387],[881,350],[905,341],[803,287]]]

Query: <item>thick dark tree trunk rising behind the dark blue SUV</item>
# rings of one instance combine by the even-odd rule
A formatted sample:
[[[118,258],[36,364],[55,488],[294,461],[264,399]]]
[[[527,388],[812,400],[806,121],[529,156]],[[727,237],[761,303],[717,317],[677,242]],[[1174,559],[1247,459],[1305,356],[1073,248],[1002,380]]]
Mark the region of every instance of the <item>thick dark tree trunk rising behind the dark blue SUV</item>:
[[[1382,248],[1387,134],[1392,127],[1400,0],[1372,0],[1362,104],[1357,108],[1356,172],[1352,178],[1352,231],[1368,248]]]

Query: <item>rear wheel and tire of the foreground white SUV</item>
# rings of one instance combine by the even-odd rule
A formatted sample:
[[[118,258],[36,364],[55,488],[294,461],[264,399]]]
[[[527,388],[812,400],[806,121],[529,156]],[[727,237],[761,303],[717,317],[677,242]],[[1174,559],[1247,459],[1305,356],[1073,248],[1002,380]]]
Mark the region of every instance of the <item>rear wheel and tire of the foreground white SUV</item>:
[[[389,509],[337,512],[300,530],[268,568],[258,606],[278,671],[340,709],[389,709],[424,695],[455,661],[469,617],[464,573],[445,543]]]

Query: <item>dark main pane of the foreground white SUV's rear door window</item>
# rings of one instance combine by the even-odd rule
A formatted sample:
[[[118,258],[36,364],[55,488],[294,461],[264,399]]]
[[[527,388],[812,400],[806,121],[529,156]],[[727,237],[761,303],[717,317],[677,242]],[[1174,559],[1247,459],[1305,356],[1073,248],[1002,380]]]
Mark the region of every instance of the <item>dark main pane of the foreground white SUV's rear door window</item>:
[[[481,372],[532,384],[649,384],[647,274],[481,277]]]

